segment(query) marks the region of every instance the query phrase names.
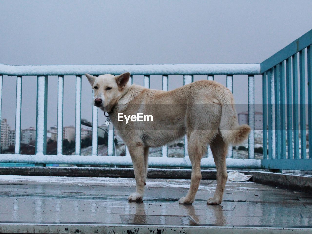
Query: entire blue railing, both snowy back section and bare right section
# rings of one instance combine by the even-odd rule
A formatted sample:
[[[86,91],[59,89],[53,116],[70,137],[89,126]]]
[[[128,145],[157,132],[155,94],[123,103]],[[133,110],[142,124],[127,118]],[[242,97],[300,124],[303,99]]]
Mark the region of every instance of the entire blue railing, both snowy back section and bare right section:
[[[149,88],[151,75],[162,75],[162,89],[168,90],[170,75],[183,75],[183,84],[193,82],[194,75],[206,75],[214,80],[214,75],[226,75],[227,87],[233,91],[233,77],[248,77],[248,124],[252,131],[248,138],[248,159],[233,159],[232,147],[227,158],[228,168],[267,168],[267,169],[298,169],[311,170],[312,134],[309,134],[309,157],[306,151],[306,100],[305,100],[305,65],[307,64],[308,88],[308,126],[312,126],[311,114],[311,45],[312,30],[298,40],[286,46],[261,64],[164,64],[164,65],[48,65],[48,66],[10,66],[0,64],[0,74],[17,76],[16,90],[16,124],[15,154],[0,154],[1,163],[60,163],[60,164],[96,164],[96,165],[132,165],[129,151],[126,156],[114,154],[114,129],[108,130],[108,156],[98,156],[98,108],[92,112],[92,153],[90,156],[81,154],[81,79],[83,74],[121,74],[130,72],[132,75],[143,75],[144,86]],[[305,62],[307,48],[307,62]],[[298,55],[300,99],[298,99]],[[254,159],[254,99],[255,75],[262,74],[263,81],[263,159]],[[2,75],[0,75],[0,110],[2,103]],[[47,80],[48,76],[58,76],[57,100],[57,154],[46,155],[46,121],[47,121]],[[63,83],[66,76],[76,76],[76,133],[75,154],[63,155]],[[36,121],[36,154],[20,154],[21,135],[21,100],[22,79],[24,76],[37,76],[37,121]],[[64,78],[65,77],[65,78]],[[235,79],[234,79],[235,80]],[[132,76],[131,80],[132,82]],[[286,83],[286,91],[285,91]],[[286,97],[285,97],[286,94]],[[91,99],[91,97],[90,97]],[[298,102],[299,100],[299,102]],[[300,129],[299,126],[300,110]],[[287,118],[286,118],[287,117]],[[1,112],[0,112],[1,119]],[[286,128],[287,126],[287,128]],[[304,127],[303,127],[304,126]],[[293,129],[294,127],[294,129]],[[299,139],[300,134],[300,139]],[[293,135],[293,137],[292,137]],[[287,141],[286,141],[287,139]],[[294,147],[292,146],[294,142]],[[286,147],[287,143],[287,147]],[[299,146],[300,143],[300,146]],[[184,149],[187,140],[184,139]],[[268,154],[267,154],[268,151]],[[184,158],[168,158],[168,147],[163,146],[162,158],[149,158],[150,166],[191,167],[191,162],[184,150]],[[309,159],[307,159],[309,158]],[[215,167],[211,151],[208,157],[202,158],[202,167]]]

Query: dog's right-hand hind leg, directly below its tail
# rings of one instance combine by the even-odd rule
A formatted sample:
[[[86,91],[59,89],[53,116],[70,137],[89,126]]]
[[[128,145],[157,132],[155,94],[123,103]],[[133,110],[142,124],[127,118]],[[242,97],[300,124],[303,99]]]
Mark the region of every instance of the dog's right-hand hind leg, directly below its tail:
[[[217,168],[217,189],[214,196],[207,200],[207,204],[220,204],[225,184],[227,183],[226,155],[228,145],[223,141],[220,133],[218,133],[210,144],[210,148]]]

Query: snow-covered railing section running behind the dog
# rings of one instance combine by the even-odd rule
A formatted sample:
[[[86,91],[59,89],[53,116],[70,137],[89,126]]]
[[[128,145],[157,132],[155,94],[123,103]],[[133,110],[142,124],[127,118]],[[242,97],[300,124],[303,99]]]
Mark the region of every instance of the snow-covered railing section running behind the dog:
[[[81,79],[85,73],[93,75],[121,74],[130,72],[132,75],[144,75],[144,87],[150,86],[150,75],[162,75],[162,89],[168,90],[169,75],[183,75],[183,84],[193,82],[193,75],[207,75],[208,80],[214,80],[214,75],[227,75],[227,87],[233,91],[233,75],[248,76],[248,110],[254,115],[254,75],[260,74],[260,64],[162,64],[162,65],[46,65],[46,66],[11,66],[0,64],[0,82],[2,75],[17,76],[16,100],[16,145],[15,154],[1,154],[3,163],[60,163],[60,164],[94,164],[94,165],[132,165],[129,151],[126,148],[125,157],[115,157],[114,129],[108,130],[108,156],[97,155],[98,138],[98,108],[92,109],[92,153],[81,156]],[[36,123],[36,154],[20,154],[21,100],[22,76],[37,76],[37,123]],[[47,79],[49,75],[58,76],[57,98],[57,155],[46,155],[46,119],[47,119]],[[75,154],[62,154],[63,140],[63,92],[64,76],[76,75],[76,118],[75,118]],[[129,82],[132,83],[132,75]],[[1,86],[2,91],[2,86]],[[2,95],[0,95],[1,106]],[[1,119],[1,112],[0,112]],[[253,116],[248,118],[254,126]],[[227,158],[229,168],[260,168],[260,160],[254,158],[253,131],[249,137],[249,156],[245,159]],[[232,147],[229,150],[232,157]],[[162,158],[150,158],[151,166],[191,167],[187,153],[187,138],[184,139],[184,158],[168,158],[168,147],[163,146]],[[208,157],[202,158],[202,167],[215,167],[211,150],[208,147]]]

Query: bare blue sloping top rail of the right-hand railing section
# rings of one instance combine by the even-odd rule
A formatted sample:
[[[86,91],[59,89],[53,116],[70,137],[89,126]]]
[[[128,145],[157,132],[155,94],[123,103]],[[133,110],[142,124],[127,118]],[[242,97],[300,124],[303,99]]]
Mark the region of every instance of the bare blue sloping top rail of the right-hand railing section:
[[[312,29],[262,63],[261,74],[312,44]]]

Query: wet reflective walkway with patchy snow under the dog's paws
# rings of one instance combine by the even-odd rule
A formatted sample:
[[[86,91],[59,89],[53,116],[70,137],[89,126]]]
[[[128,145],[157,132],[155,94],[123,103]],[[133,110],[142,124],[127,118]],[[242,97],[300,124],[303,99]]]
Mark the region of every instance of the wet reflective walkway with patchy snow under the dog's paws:
[[[202,180],[195,202],[180,205],[178,200],[188,187],[189,180],[149,179],[144,201],[136,203],[127,201],[135,189],[132,178],[1,175],[0,233],[312,230],[312,196],[308,193],[253,182],[228,182],[222,204],[207,205],[216,181]]]

